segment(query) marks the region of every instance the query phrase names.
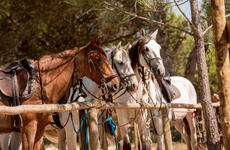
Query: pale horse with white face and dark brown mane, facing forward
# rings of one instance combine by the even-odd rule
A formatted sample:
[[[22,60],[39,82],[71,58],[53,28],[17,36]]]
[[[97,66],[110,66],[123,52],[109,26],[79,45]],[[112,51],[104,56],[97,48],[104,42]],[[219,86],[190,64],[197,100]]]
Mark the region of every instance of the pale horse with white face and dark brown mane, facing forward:
[[[154,72],[158,78],[162,78],[165,74],[165,68],[163,66],[163,61],[160,57],[160,45],[158,45],[155,41],[156,35],[158,31],[150,35],[145,35],[144,30],[141,30],[140,35],[141,38],[135,41],[132,44],[132,47],[129,50],[129,55],[132,61],[132,67],[137,76],[138,80],[138,91],[134,93],[132,96],[126,95],[121,98],[117,102],[122,103],[148,103],[149,94],[148,89],[146,88],[146,81],[151,81],[149,79],[145,79],[145,70],[151,70]],[[157,95],[151,95],[154,103],[159,103],[159,99],[157,99]],[[116,110],[117,119],[120,129],[121,141],[119,142],[119,149],[131,149],[130,141],[128,137],[128,126],[125,126],[127,122],[130,121],[130,118],[135,118],[138,125],[139,137],[140,137],[140,146],[142,149],[151,149],[150,147],[150,137],[146,128],[146,119],[147,119],[147,111],[145,110]],[[160,117],[161,118],[161,117]],[[158,138],[158,148],[163,149],[163,138]]]

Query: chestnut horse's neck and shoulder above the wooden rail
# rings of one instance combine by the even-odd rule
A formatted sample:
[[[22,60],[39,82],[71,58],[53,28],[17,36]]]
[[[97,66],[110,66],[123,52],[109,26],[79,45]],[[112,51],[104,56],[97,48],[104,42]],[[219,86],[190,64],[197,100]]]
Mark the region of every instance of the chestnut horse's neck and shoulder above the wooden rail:
[[[71,54],[71,53],[70,53]],[[66,57],[44,57],[39,62],[43,86],[44,102],[55,104],[68,92],[72,86],[74,71],[74,54]],[[39,68],[35,65],[38,95],[41,95]],[[82,75],[79,76],[81,78]],[[40,97],[40,96],[39,96]],[[41,99],[41,97],[40,97]]]

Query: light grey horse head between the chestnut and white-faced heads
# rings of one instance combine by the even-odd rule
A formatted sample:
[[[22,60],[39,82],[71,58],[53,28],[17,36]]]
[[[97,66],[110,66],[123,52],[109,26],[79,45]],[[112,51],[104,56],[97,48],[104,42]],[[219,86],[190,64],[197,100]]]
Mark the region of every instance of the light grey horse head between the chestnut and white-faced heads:
[[[138,82],[128,55],[130,46],[128,43],[125,47],[121,47],[121,42],[119,42],[116,49],[111,51],[110,61],[112,61],[111,65],[120,78],[120,84],[126,87],[128,92],[133,93],[138,89]]]

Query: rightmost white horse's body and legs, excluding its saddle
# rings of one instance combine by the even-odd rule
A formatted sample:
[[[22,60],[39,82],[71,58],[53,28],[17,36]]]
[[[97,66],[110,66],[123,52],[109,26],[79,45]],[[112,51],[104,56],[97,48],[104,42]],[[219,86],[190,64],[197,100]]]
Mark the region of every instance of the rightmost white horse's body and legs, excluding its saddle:
[[[150,86],[150,94],[154,95],[154,93],[159,89],[155,84]],[[171,103],[183,103],[183,104],[197,104],[196,91],[192,85],[192,83],[183,77],[174,76],[171,77],[171,84],[178,88],[181,93],[181,96]],[[161,98],[161,93],[159,98]],[[162,100],[166,102],[163,98]],[[152,110],[155,111],[155,110]],[[174,108],[169,109],[168,118],[170,119],[170,126],[174,126],[180,133],[183,140],[187,144],[188,150],[197,150],[197,134],[196,134],[196,124],[195,118],[193,117],[194,109],[185,109],[185,108]],[[164,114],[163,114],[164,115]],[[158,134],[158,138],[163,140],[163,128],[161,118],[153,115],[153,121],[151,125],[155,127],[156,132]],[[159,144],[159,141],[158,141]]]

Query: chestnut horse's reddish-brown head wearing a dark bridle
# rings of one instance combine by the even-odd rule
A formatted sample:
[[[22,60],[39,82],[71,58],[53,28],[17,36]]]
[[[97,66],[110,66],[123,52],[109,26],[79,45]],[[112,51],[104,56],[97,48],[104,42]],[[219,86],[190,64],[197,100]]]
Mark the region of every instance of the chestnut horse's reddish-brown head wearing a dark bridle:
[[[115,93],[119,87],[117,74],[109,64],[106,54],[100,45],[101,38],[97,40],[97,36],[95,36],[86,47],[82,48],[85,50],[85,53],[81,59],[84,59],[84,63],[87,64],[82,69],[88,68],[85,74],[86,77],[100,85],[101,88],[108,87],[111,93]]]

